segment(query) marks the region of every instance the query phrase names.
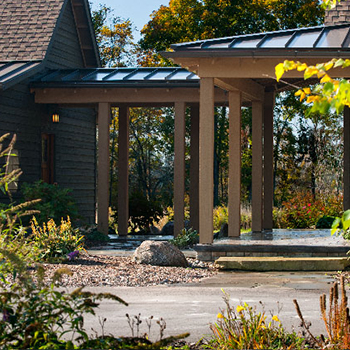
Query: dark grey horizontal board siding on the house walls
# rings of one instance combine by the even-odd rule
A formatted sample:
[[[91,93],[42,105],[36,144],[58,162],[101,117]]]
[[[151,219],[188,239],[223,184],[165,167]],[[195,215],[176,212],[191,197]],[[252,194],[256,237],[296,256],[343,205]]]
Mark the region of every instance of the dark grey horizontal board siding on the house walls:
[[[57,22],[43,66],[84,67],[70,2]],[[91,108],[60,108],[60,122],[53,124],[53,107],[35,104],[29,84],[27,79],[0,91],[0,133],[17,134],[15,148],[23,171],[19,190],[23,182],[41,179],[41,134],[54,134],[54,181],[72,190],[82,221],[92,224],[96,202],[96,112]],[[6,198],[2,196],[0,200]]]

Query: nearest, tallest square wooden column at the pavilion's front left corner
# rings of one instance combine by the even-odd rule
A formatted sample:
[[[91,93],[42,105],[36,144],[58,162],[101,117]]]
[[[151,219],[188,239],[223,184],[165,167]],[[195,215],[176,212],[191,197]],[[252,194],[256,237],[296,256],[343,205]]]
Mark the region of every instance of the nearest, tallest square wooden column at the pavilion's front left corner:
[[[200,79],[199,107],[199,242],[213,243],[214,79]]]

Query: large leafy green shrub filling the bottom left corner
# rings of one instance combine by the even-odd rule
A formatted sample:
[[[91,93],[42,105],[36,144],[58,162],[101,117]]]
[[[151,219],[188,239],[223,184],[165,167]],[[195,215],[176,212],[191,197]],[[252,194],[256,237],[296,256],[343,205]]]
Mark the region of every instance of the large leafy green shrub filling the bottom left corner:
[[[0,291],[0,348],[74,349],[73,341],[89,339],[83,328],[83,315],[94,315],[99,300],[111,299],[127,305],[109,293],[95,294],[83,288],[71,293],[57,291],[55,287],[61,276],[70,274],[68,269],[56,271],[47,286],[42,267],[37,267],[33,279],[23,261],[6,251],[1,253],[11,261],[15,280],[1,276],[6,288]]]

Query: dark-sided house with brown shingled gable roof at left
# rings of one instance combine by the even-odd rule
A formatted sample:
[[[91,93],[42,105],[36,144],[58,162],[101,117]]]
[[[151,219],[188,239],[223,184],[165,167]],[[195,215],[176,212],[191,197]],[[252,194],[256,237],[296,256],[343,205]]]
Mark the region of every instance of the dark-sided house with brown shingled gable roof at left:
[[[36,104],[29,86],[48,69],[100,66],[88,1],[1,1],[0,48],[0,134],[17,135],[19,188],[40,179],[70,188],[80,215],[94,223],[96,113]]]

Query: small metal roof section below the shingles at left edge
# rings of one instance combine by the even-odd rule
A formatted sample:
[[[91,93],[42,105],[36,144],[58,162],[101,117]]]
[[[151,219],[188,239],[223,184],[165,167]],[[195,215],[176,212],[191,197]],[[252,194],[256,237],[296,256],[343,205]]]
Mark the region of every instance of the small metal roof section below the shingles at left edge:
[[[40,65],[41,61],[0,62],[0,89],[30,77],[40,69]]]

